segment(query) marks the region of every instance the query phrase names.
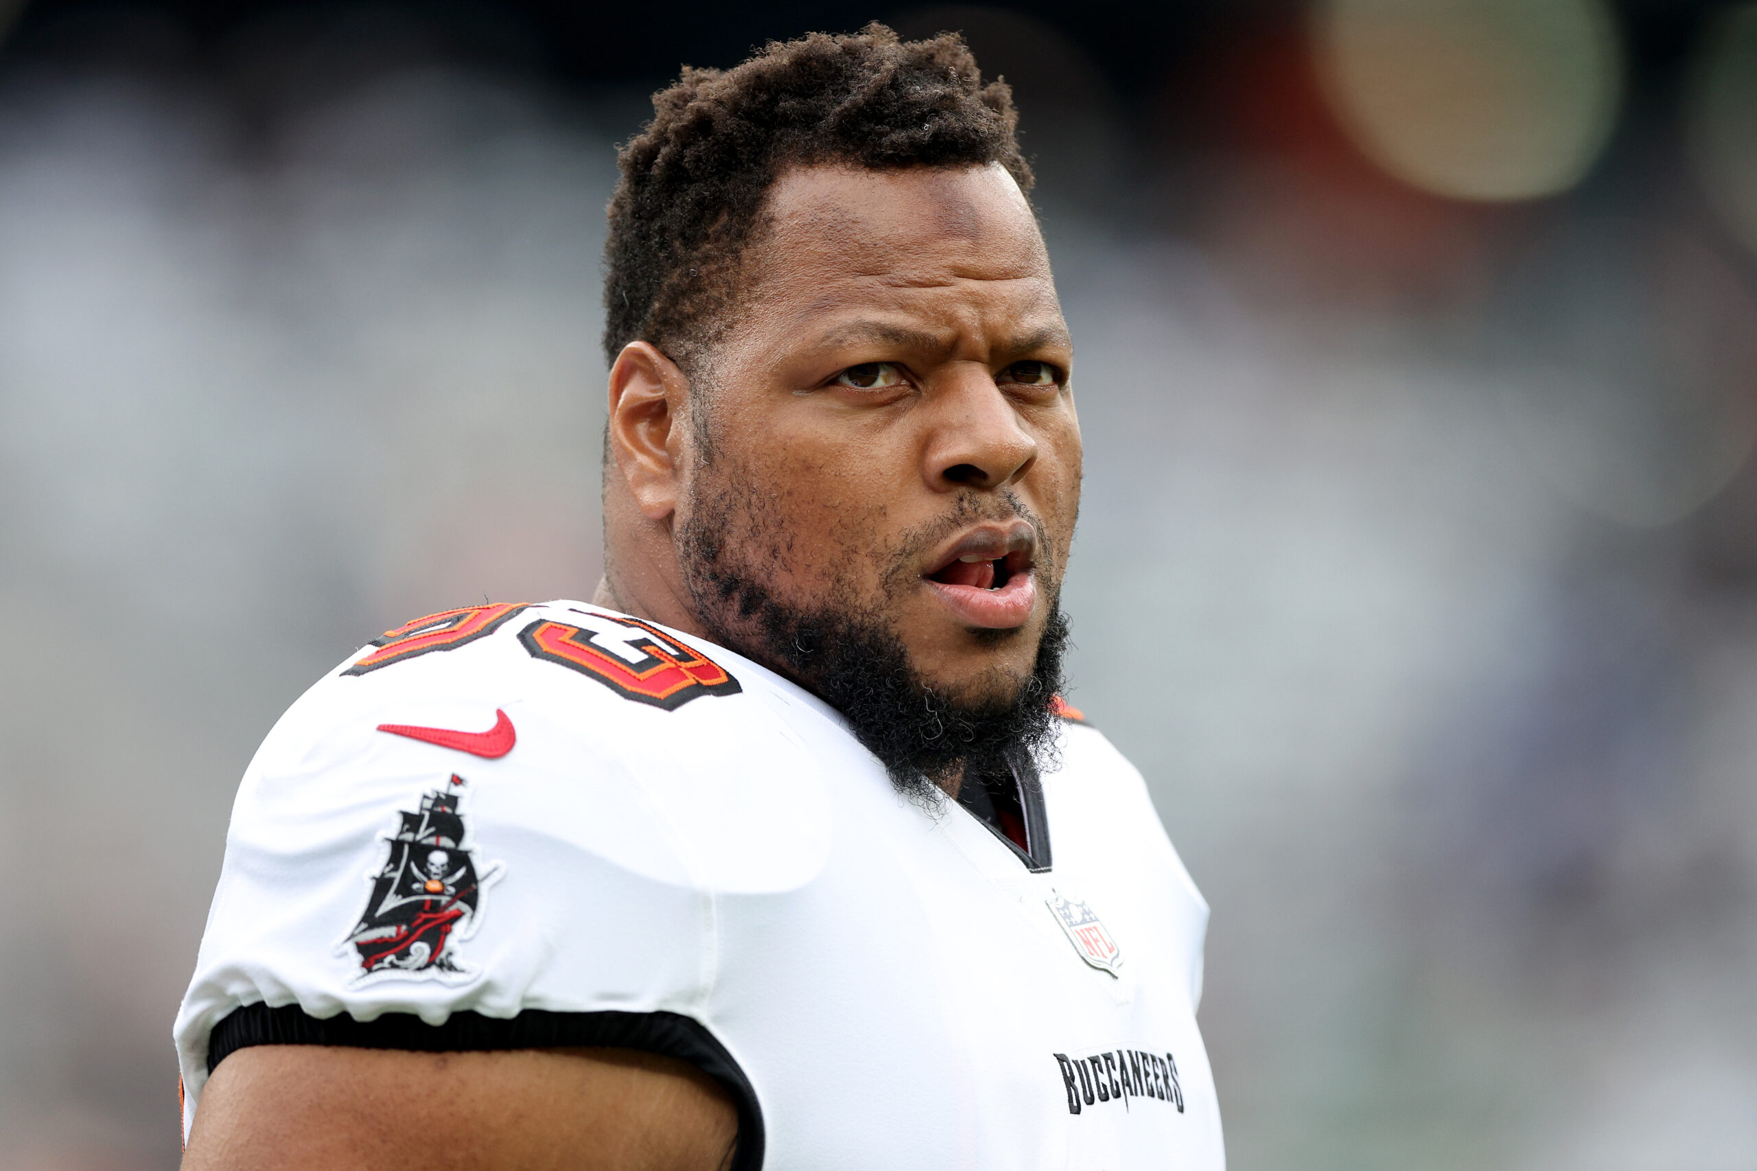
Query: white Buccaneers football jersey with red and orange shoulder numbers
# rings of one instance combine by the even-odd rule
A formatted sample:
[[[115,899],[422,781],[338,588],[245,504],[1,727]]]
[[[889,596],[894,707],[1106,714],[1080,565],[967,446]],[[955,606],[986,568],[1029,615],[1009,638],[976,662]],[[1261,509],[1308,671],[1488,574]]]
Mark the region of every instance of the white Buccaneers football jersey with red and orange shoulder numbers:
[[[232,1048],[378,1022],[682,1055],[740,1101],[740,1167],[1219,1171],[1207,906],[1135,768],[1074,721],[1058,756],[1021,849],[699,638],[573,601],[418,619],[244,774],[184,1132]]]

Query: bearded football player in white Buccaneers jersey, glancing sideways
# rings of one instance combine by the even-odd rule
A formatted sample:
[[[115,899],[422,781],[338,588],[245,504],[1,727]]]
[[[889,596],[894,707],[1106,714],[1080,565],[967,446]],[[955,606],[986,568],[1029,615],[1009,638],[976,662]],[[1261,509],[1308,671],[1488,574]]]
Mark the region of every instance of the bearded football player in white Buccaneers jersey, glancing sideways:
[[[655,97],[604,578],[387,631],[269,733],[186,1167],[1223,1166],[1207,907],[1058,698],[1081,433],[1014,125],[877,25]]]

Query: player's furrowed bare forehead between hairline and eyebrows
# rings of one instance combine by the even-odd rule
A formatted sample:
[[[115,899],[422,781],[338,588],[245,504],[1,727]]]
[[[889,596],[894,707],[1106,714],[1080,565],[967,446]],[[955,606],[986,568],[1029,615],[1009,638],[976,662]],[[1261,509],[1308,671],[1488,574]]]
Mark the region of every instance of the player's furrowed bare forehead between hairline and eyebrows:
[[[1037,218],[998,164],[796,167],[766,211],[747,295],[794,325],[854,308],[1059,320]]]

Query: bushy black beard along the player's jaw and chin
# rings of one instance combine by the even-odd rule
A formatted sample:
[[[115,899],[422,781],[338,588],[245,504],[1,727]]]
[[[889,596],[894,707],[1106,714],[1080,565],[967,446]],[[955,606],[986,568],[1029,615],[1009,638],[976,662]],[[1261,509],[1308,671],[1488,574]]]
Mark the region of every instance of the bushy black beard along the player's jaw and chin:
[[[1068,622],[1051,596],[1031,675],[1010,698],[959,700],[935,689],[908,649],[877,615],[847,596],[815,608],[773,596],[726,556],[726,499],[692,510],[680,526],[683,578],[696,612],[722,645],[780,670],[849,721],[898,791],[938,800],[959,777],[1005,777],[1016,761],[1049,765]],[[724,621],[736,614],[736,626]],[[722,617],[724,615],[724,617]],[[993,631],[1007,636],[1005,631]]]

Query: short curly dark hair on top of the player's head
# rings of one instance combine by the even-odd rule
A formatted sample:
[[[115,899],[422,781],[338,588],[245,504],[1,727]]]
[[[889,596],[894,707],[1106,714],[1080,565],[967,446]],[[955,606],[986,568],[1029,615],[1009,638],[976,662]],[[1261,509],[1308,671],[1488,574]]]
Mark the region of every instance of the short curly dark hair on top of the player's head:
[[[1024,192],[1019,116],[958,33],[900,40],[884,25],[770,42],[729,70],[683,69],[617,156],[604,243],[604,357],[650,341],[696,366],[736,301],[745,246],[782,171],[1000,164]]]

